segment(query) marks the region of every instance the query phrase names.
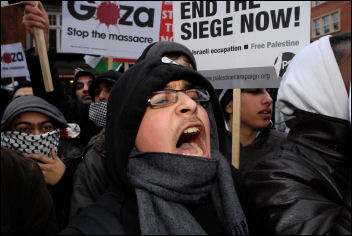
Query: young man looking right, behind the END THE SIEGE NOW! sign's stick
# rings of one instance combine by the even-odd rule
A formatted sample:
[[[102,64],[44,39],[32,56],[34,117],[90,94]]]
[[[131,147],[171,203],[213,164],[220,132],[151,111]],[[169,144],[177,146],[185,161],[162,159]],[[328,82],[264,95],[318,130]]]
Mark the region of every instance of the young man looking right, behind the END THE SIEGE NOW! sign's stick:
[[[274,152],[286,141],[286,134],[272,127],[273,99],[271,89],[241,89],[240,172],[244,174],[258,158]],[[227,158],[232,158],[232,89],[219,95],[227,126]]]

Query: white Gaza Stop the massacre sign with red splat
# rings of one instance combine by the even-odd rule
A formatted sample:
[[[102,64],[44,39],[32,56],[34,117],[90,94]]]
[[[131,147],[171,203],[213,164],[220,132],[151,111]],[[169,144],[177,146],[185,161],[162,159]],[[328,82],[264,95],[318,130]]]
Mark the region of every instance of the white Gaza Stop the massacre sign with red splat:
[[[137,59],[159,41],[161,1],[64,1],[62,52]]]

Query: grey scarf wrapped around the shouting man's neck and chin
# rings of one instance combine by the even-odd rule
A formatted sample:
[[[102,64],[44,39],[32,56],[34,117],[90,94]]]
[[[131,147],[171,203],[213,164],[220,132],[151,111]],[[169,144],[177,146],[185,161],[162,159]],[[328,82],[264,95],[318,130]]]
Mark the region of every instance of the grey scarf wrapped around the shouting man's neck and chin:
[[[196,205],[211,194],[228,234],[248,234],[234,189],[229,163],[169,153],[132,153],[128,177],[136,188],[142,234],[206,234],[185,204]]]

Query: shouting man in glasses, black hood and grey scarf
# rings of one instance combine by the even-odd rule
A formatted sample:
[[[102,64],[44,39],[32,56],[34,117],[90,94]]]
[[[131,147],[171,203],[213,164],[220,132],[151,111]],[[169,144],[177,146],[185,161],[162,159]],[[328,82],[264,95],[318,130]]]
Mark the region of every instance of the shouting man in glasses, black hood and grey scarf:
[[[164,57],[139,61],[108,101],[109,188],[61,234],[247,234],[224,130],[202,75]]]

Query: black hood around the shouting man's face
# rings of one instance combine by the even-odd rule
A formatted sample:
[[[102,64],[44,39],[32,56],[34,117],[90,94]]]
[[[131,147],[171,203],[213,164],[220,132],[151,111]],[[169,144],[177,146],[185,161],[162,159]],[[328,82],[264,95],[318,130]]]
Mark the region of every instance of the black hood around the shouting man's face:
[[[127,179],[127,160],[135,146],[135,139],[148,106],[149,97],[153,92],[162,90],[168,82],[180,79],[208,90],[211,100],[208,109],[212,109],[208,114],[210,122],[214,123],[211,133],[218,136],[219,141],[212,143],[212,149],[217,148],[223,155],[226,153],[223,113],[212,85],[192,69],[165,64],[161,62],[160,57],[150,57],[137,63],[121,76],[108,100],[105,133],[107,166],[111,181],[119,187],[130,189]]]

